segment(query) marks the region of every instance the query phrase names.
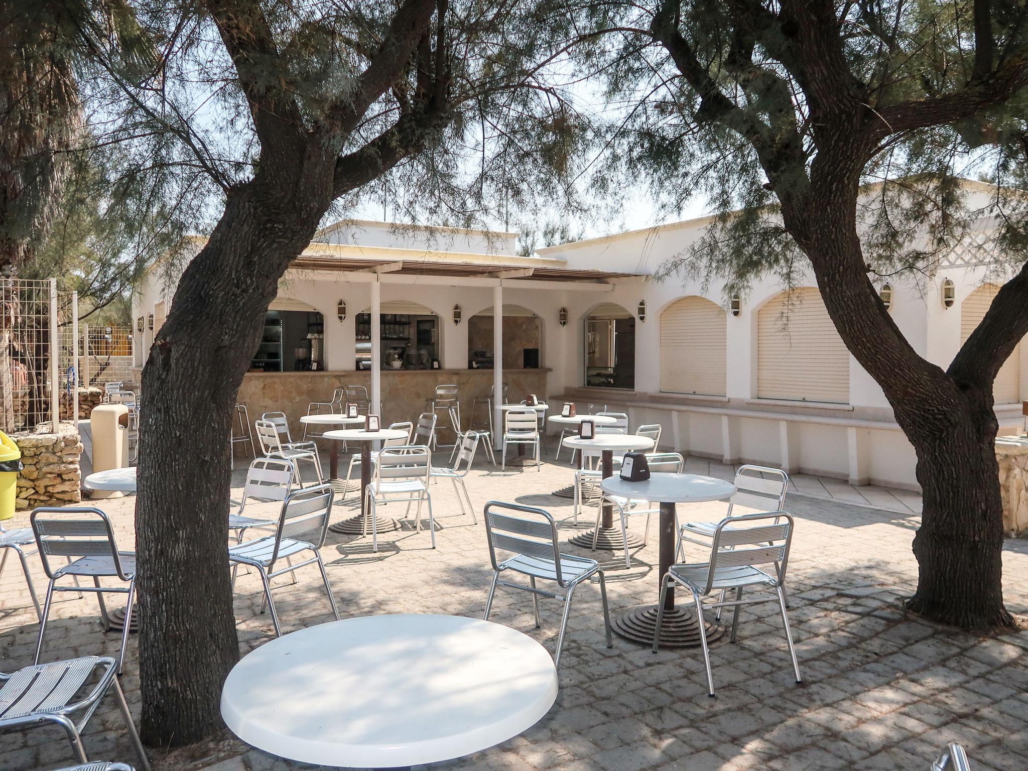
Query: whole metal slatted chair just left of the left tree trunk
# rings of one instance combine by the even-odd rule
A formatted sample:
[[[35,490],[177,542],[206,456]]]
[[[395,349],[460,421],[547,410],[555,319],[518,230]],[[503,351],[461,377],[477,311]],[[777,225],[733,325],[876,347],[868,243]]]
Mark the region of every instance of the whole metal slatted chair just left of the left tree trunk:
[[[100,618],[104,629],[111,628],[107,615],[104,593],[127,595],[124,628],[121,631],[121,648],[118,652],[118,673],[124,665],[125,647],[128,645],[128,629],[132,627],[132,607],[136,598],[136,552],[119,551],[114,539],[114,529],[107,514],[91,507],[51,508],[39,507],[29,515],[32,531],[36,537],[36,547],[43,562],[43,572],[50,583],[46,587],[46,601],[43,616],[39,621],[39,638],[36,641],[35,663],[43,651],[43,634],[50,614],[50,603],[54,592],[94,592],[100,603]],[[50,557],[70,557],[72,561],[57,570],[50,564]],[[58,581],[66,576],[76,579],[74,587],[58,586]],[[93,586],[80,586],[78,577],[93,579]],[[101,578],[116,578],[127,586],[101,586]]]

